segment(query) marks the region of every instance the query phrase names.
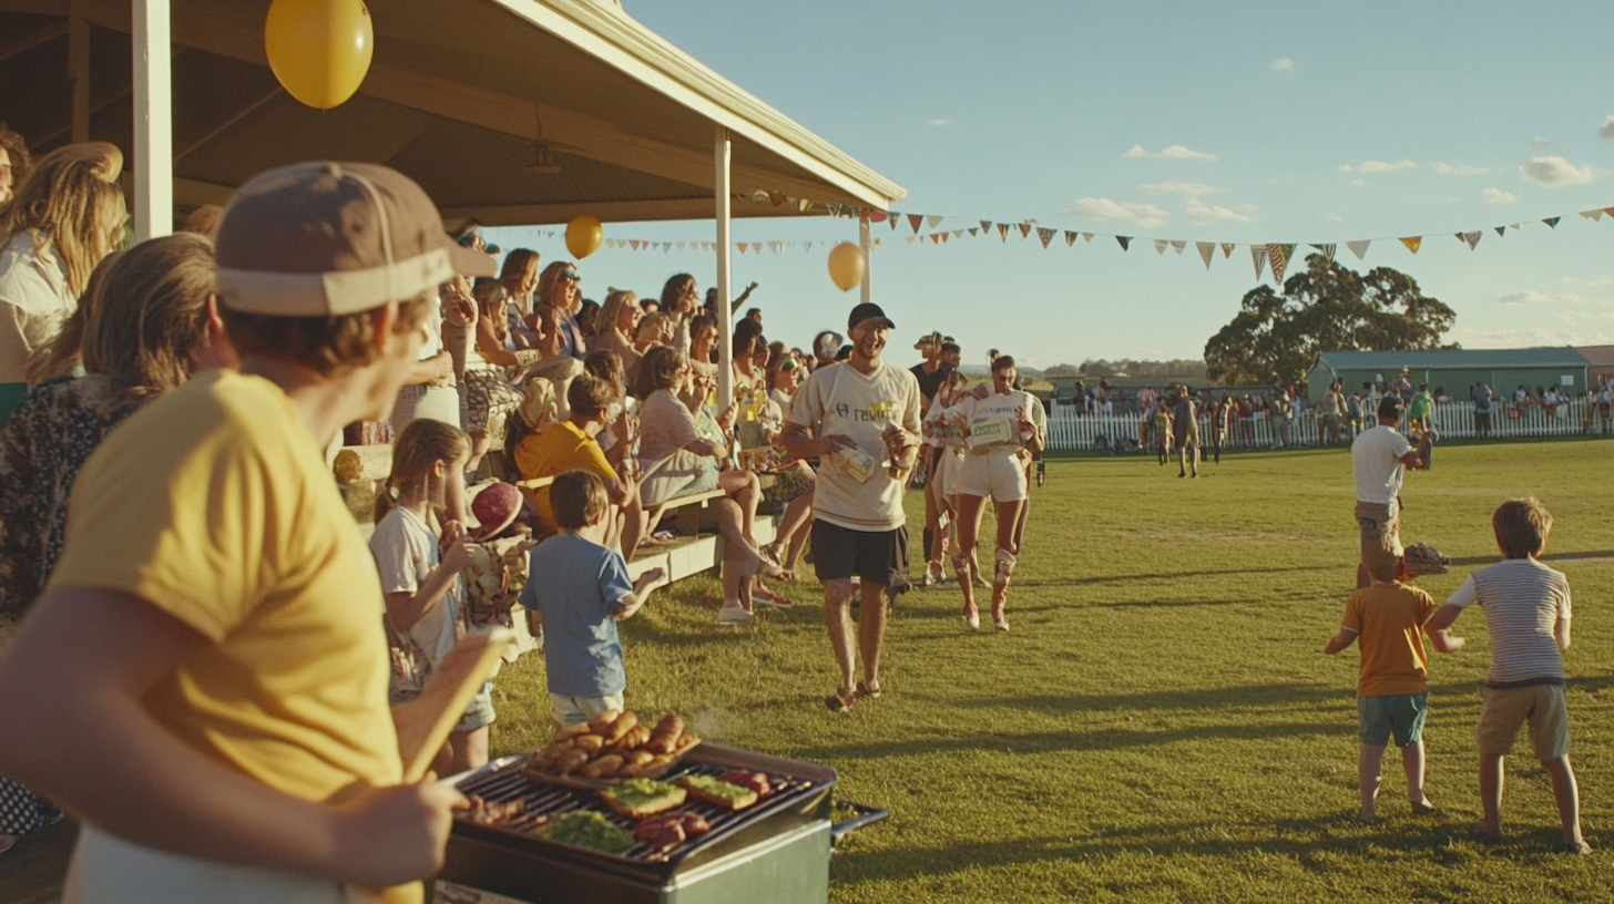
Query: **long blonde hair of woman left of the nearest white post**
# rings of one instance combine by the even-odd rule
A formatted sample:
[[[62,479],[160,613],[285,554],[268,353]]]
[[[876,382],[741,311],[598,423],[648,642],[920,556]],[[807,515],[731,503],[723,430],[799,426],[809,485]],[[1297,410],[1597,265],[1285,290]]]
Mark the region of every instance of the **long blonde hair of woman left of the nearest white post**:
[[[61,258],[68,291],[84,294],[90,273],[123,241],[129,216],[115,179],[123,153],[110,144],[58,147],[34,163],[10,202],[0,205],[0,247],[19,232]]]

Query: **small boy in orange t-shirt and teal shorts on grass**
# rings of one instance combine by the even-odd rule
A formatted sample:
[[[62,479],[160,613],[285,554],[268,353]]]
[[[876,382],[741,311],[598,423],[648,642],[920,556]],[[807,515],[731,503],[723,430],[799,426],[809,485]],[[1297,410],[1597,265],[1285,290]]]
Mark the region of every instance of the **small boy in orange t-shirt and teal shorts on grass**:
[[[1435,804],[1424,793],[1424,717],[1428,714],[1428,655],[1424,652],[1424,623],[1435,612],[1435,601],[1424,591],[1396,581],[1394,565],[1374,563],[1372,586],[1351,594],[1344,623],[1325,654],[1336,654],[1361,639],[1362,670],[1356,683],[1357,736],[1362,755],[1357,765],[1362,789],[1362,822],[1378,818],[1380,762],[1394,736],[1401,767],[1407,773],[1407,799],[1414,814],[1432,814]],[[1462,638],[1446,631],[1427,634],[1440,652],[1453,652]]]

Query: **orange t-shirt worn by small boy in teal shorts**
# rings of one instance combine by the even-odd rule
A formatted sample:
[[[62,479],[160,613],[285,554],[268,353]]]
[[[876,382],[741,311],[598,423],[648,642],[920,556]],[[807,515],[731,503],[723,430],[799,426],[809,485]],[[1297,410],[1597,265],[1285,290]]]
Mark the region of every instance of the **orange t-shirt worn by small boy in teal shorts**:
[[[1422,694],[1428,689],[1428,654],[1424,623],[1435,613],[1435,599],[1404,584],[1365,588],[1344,604],[1344,628],[1357,631],[1362,670],[1356,696]]]

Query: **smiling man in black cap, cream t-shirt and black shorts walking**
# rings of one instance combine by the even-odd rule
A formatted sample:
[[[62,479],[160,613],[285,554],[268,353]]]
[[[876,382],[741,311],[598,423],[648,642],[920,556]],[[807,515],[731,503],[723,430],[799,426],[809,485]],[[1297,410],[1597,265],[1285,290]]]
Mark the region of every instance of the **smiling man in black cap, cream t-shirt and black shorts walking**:
[[[841,668],[841,684],[826,701],[833,710],[880,696],[886,602],[909,586],[902,489],[918,455],[918,381],[880,360],[893,328],[880,305],[852,308],[851,357],[815,370],[796,392],[784,423],[786,454],[822,462],[812,500],[812,549],[813,571],[825,588],[825,626]],[[862,578],[863,680],[855,688],[852,575]]]

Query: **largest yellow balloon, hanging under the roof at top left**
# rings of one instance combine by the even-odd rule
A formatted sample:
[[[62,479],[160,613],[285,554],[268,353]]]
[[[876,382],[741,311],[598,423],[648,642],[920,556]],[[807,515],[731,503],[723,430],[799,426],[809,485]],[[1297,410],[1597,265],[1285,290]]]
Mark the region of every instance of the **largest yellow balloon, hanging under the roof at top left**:
[[[370,71],[376,34],[363,0],[274,0],[263,50],[286,94],[329,110],[347,102]]]

